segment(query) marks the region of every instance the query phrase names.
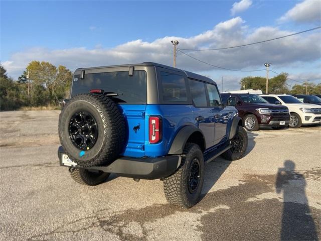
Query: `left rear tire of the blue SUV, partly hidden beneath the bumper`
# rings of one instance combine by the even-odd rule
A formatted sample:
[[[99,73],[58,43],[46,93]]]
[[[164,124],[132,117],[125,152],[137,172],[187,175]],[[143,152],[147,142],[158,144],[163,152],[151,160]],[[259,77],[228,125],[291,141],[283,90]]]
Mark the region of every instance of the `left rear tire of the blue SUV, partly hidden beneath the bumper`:
[[[110,173],[90,172],[87,169],[82,168],[71,168],[69,172],[72,179],[74,179],[75,182],[88,186],[99,185],[106,181],[110,175]]]

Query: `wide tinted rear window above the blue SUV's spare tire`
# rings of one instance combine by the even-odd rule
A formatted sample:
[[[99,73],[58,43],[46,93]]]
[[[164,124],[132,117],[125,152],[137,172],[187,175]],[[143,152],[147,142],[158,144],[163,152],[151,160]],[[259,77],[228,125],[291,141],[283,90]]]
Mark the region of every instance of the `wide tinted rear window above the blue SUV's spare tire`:
[[[113,100],[122,103],[147,102],[147,78],[143,70],[135,70],[133,76],[128,71],[85,74],[84,79],[75,75],[71,96],[89,93],[91,89],[103,89],[105,92],[118,93]]]

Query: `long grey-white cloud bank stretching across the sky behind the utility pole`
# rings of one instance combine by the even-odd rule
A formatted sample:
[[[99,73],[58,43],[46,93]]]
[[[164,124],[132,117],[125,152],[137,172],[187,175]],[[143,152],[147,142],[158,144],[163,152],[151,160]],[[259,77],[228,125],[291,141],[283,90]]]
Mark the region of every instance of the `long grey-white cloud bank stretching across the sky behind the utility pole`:
[[[262,41],[291,33],[274,27],[249,29],[245,22],[240,17],[237,17],[219,23],[212,30],[190,38],[167,36],[152,42],[138,39],[114,48],[104,48],[103,46],[97,46],[93,49],[87,49],[86,47],[54,50],[32,48],[14,53],[10,59],[2,64],[8,70],[8,74],[14,78],[20,76],[32,60],[65,65],[72,71],[79,67],[141,63],[145,61],[172,65],[173,45],[171,40],[178,40],[180,42],[178,47],[185,49],[221,48]],[[243,48],[188,53],[195,58],[225,68],[264,69],[263,64],[268,61],[273,64],[273,69],[283,68],[286,70],[286,68],[294,64],[304,68],[304,64],[307,65],[307,63],[319,60],[321,57],[320,40],[321,32],[314,31]],[[180,52],[177,57],[177,67],[199,73],[211,71],[213,79],[216,79],[216,76],[229,73],[233,73],[236,76],[241,74],[264,75],[264,71],[239,73],[213,70],[213,67],[195,61]],[[238,77],[238,79],[240,78]]]

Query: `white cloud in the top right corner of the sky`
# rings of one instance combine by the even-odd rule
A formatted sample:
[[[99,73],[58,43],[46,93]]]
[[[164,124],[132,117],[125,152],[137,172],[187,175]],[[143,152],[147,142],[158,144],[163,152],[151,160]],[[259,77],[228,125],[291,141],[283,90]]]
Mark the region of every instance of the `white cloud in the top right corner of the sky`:
[[[321,22],[321,0],[305,0],[298,3],[279,18],[279,22],[292,20],[297,23]]]

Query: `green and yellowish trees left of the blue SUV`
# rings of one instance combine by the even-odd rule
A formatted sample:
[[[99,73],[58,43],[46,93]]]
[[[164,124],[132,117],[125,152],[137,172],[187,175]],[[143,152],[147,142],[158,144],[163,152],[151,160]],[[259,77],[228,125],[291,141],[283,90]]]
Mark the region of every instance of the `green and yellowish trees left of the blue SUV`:
[[[72,73],[65,66],[32,61],[15,81],[0,65],[0,110],[30,106],[59,106],[69,96]]]

